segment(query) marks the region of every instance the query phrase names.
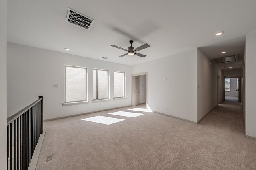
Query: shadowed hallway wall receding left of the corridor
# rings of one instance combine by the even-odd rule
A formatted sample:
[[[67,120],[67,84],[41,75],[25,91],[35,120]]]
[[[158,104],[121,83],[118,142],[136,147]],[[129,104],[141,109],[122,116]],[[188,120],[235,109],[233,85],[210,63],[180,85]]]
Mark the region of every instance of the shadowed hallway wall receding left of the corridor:
[[[197,49],[197,121],[217,106],[217,75],[220,76],[219,96],[222,101],[222,71],[216,63]]]

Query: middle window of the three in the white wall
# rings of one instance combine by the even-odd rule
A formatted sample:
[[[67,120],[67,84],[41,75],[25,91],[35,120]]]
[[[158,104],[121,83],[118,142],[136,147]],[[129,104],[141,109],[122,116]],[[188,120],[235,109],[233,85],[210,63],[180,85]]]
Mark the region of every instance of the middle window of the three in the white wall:
[[[108,70],[93,70],[93,100],[108,99]]]

